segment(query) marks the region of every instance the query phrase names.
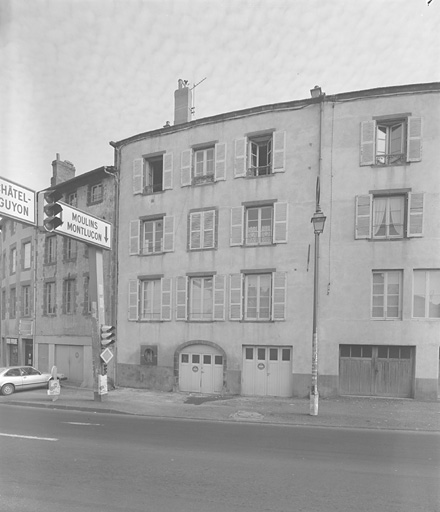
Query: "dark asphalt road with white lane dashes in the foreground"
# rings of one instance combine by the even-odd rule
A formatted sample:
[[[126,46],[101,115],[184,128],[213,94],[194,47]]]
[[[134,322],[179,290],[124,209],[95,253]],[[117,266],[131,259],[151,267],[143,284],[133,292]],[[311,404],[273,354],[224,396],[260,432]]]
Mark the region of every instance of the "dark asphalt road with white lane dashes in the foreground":
[[[2,512],[437,512],[440,435],[0,406]]]

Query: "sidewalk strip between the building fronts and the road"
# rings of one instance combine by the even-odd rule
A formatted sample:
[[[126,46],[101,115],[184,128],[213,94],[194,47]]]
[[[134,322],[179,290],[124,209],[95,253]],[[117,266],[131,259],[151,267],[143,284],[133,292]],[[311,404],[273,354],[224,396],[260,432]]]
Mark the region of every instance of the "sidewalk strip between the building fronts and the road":
[[[0,396],[0,405],[208,421],[440,432],[440,401],[321,398],[318,416],[310,416],[309,400],[299,398],[198,395],[117,388],[110,391],[102,402],[97,402],[92,390],[69,387],[64,383],[61,395],[55,401],[52,398],[45,389],[22,391]]]

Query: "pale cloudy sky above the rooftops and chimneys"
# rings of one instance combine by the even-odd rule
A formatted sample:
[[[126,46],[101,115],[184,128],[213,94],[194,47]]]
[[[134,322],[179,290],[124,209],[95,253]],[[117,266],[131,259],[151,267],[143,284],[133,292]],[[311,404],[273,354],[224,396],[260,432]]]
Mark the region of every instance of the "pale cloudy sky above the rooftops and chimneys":
[[[113,165],[110,141],[173,123],[179,78],[194,119],[440,81],[428,1],[0,0],[0,177],[47,188],[57,153]]]

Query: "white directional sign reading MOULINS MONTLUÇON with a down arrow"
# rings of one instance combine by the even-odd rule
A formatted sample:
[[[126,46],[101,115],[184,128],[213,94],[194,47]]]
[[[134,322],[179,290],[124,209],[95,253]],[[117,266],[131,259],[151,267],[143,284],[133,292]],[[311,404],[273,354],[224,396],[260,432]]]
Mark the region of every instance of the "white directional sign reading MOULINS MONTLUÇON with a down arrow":
[[[97,245],[104,249],[111,249],[112,224],[110,222],[94,217],[61,201],[59,201],[59,204],[63,207],[60,214],[63,223],[55,229],[56,233],[77,238],[82,242]]]

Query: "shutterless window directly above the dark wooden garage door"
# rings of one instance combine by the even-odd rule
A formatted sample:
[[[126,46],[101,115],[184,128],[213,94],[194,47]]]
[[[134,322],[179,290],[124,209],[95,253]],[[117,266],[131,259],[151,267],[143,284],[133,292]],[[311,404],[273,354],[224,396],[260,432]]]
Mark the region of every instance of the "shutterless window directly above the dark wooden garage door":
[[[402,316],[402,271],[373,271],[373,319],[400,319]]]

